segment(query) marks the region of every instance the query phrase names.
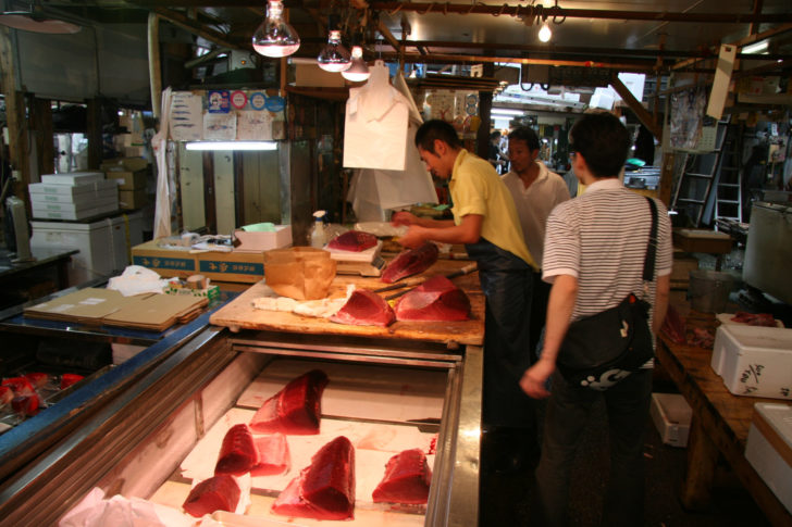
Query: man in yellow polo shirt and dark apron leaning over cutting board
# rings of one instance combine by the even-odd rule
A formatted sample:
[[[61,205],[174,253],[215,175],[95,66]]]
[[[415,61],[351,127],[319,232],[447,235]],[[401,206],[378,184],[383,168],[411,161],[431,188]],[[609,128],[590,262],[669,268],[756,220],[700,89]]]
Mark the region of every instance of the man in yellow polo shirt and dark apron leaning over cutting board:
[[[410,226],[398,242],[410,248],[428,240],[465,243],[478,263],[486,297],[482,468],[519,469],[539,455],[534,403],[519,387],[521,367],[533,363],[531,273],[539,266],[525,246],[509,190],[487,161],[462,148],[451,125],[425,122],[416,133],[416,146],[435,177],[450,179],[454,219],[397,212],[392,222]]]

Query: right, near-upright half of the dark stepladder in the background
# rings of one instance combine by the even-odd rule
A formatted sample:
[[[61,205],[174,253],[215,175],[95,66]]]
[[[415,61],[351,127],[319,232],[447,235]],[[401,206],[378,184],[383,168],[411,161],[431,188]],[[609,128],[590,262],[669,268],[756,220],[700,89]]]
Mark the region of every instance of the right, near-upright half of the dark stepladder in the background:
[[[729,125],[716,177],[715,219],[742,223],[742,125]]]

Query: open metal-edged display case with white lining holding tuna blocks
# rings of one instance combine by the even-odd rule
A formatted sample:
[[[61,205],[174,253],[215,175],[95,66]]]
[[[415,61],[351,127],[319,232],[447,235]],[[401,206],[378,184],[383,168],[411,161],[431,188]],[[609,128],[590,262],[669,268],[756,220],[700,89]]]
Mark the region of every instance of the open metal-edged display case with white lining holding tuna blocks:
[[[245,515],[224,525],[319,525],[276,516],[283,487],[324,442],[344,435],[356,450],[355,519],[346,525],[472,525],[478,517],[482,348],[206,326],[77,429],[0,487],[0,525],[55,525],[91,489],[180,509],[211,475],[230,426],[247,422],[292,377],[321,368],[318,436],[288,436],[292,467],[252,478]],[[436,444],[436,447],[433,447]],[[373,503],[388,457],[430,454],[428,503]],[[434,449],[434,450],[432,450]],[[324,520],[322,525],[326,525]]]

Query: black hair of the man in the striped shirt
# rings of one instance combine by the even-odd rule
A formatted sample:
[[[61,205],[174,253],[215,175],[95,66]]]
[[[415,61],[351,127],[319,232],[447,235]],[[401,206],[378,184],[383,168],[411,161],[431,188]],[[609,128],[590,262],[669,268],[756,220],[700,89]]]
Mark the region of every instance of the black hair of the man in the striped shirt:
[[[630,151],[630,135],[615,115],[589,113],[569,130],[569,148],[580,153],[595,177],[616,177]]]

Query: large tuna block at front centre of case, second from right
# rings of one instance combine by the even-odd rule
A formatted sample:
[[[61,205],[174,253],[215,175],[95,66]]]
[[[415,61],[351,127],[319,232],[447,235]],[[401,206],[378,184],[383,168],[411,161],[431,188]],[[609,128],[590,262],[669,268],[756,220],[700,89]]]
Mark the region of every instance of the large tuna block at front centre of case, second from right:
[[[350,519],[355,513],[355,448],[344,436],[333,439],[311,457],[272,505],[283,516]]]

